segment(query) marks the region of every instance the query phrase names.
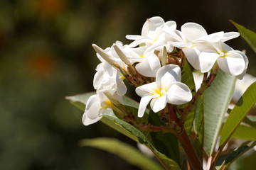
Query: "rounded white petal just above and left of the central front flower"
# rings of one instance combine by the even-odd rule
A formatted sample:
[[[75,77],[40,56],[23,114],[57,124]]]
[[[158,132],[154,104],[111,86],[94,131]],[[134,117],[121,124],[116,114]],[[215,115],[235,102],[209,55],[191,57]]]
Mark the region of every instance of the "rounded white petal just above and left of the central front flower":
[[[156,72],[160,69],[160,61],[156,55],[151,54],[145,58],[144,62],[138,63],[135,66],[137,72],[145,77],[156,77]]]

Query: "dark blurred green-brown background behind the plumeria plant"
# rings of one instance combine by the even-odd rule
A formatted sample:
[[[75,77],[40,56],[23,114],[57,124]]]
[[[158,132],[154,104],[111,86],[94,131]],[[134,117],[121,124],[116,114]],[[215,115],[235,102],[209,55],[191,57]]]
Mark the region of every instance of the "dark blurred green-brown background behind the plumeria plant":
[[[99,61],[92,43],[129,43],[125,35],[139,35],[151,16],[174,20],[178,29],[192,21],[208,33],[235,31],[232,19],[256,30],[255,8],[247,0],[1,0],[0,169],[137,169],[107,152],[78,147],[93,137],[136,145],[102,123],[85,127],[82,111],[64,99],[94,90]],[[256,76],[256,56],[246,42],[228,44],[247,50],[248,72]]]

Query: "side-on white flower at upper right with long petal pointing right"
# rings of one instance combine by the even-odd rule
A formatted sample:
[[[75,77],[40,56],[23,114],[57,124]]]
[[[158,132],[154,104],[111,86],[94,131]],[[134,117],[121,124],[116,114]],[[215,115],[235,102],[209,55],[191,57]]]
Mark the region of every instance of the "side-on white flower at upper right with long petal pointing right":
[[[200,70],[201,65],[198,56],[202,51],[212,49],[213,43],[225,42],[240,35],[237,32],[224,33],[223,31],[208,35],[203,26],[197,23],[185,23],[181,26],[181,31],[166,29],[164,31],[174,38],[174,41],[169,43],[181,48],[192,67]]]

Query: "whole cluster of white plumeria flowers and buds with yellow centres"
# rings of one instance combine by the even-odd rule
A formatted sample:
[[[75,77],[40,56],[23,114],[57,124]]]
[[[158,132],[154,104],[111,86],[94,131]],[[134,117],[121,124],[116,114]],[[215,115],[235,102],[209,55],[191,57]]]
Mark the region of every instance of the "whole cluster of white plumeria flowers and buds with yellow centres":
[[[197,23],[185,23],[181,30],[174,21],[161,17],[146,20],[142,35],[127,35],[133,40],[129,45],[115,42],[105,50],[93,44],[100,64],[93,80],[97,94],[87,101],[82,122],[90,125],[100,120],[108,109],[122,103],[127,83],[137,87],[141,96],[138,116],[146,106],[159,112],[166,104],[181,105],[191,101],[191,90],[181,82],[184,60],[202,73],[218,65],[223,72],[242,79],[248,60],[244,53],[233,50],[225,41],[237,38],[239,33],[212,33]],[[113,103],[114,102],[114,103]]]

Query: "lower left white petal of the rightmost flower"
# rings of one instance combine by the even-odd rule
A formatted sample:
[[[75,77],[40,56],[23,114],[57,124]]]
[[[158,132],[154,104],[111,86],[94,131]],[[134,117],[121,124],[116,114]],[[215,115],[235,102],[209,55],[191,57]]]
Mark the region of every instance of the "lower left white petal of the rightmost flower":
[[[205,50],[199,55],[200,70],[202,73],[209,72],[213,68],[220,55],[215,50]]]

